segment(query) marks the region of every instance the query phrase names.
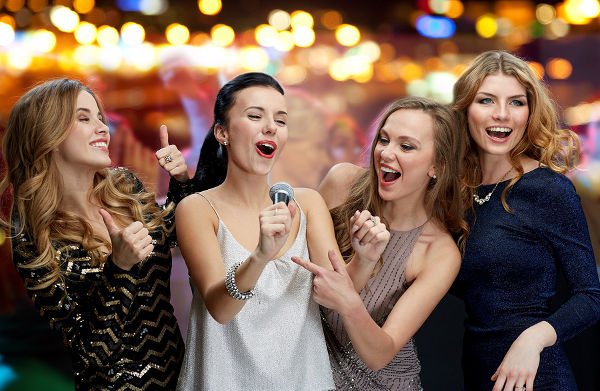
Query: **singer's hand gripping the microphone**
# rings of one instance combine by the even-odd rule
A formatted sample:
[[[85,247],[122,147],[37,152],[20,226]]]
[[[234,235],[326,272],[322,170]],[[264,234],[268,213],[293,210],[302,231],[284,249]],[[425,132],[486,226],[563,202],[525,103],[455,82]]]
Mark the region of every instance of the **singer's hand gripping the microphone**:
[[[287,206],[279,202],[260,212],[260,237],[254,250],[258,259],[268,262],[275,258],[287,240],[296,210],[294,202]]]

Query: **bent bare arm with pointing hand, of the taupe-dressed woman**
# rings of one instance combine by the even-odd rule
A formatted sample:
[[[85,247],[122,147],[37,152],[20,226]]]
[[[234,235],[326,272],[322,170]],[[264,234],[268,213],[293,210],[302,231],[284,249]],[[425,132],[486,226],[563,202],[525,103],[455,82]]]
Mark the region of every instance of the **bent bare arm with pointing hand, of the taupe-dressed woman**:
[[[383,327],[371,318],[339,258],[330,257],[334,272],[320,270],[297,258],[294,261],[315,274],[315,301],[341,315],[358,356],[369,368],[378,370],[406,345],[458,274],[460,253],[452,239],[447,238],[437,247],[423,259],[425,266],[396,302]]]

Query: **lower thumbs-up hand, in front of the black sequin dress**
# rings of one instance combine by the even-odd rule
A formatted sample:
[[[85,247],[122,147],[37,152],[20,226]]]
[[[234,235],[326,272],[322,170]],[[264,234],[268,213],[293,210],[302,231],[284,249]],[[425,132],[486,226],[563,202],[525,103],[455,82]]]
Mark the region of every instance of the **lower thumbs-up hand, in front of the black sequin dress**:
[[[154,249],[152,237],[148,229],[139,221],[134,221],[125,228],[115,224],[112,216],[104,209],[100,215],[112,244],[112,260],[121,269],[130,270],[133,265],[145,259]]]

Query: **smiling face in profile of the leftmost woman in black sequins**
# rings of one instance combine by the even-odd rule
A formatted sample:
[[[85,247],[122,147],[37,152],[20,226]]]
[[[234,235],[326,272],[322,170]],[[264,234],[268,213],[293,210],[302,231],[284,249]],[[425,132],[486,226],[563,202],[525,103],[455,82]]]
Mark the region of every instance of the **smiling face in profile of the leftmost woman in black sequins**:
[[[110,134],[94,97],[80,91],[75,105],[75,121],[69,135],[54,151],[59,167],[96,171],[109,167]]]

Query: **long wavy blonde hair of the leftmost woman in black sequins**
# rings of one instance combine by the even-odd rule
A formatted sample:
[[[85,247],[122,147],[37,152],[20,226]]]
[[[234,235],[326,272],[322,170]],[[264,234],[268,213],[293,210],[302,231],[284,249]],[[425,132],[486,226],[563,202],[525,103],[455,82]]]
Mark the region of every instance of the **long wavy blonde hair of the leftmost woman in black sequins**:
[[[53,151],[67,138],[75,122],[77,96],[86,91],[96,100],[102,117],[104,111],[92,90],[77,80],[58,79],[28,91],[14,105],[3,140],[6,175],[0,182],[0,194],[12,186],[12,221],[0,218],[0,224],[16,235],[25,233],[37,250],[24,268],[45,268],[48,273],[32,286],[43,289],[64,278],[58,253],[69,243],[81,243],[90,252],[93,265],[106,261],[100,251],[110,242],[95,234],[81,216],[61,210],[62,176]],[[172,207],[156,205],[154,194],[133,193],[139,184],[125,170],[102,169],[95,173],[89,199],[98,202],[122,225],[131,220],[144,223],[154,231],[162,227]]]

